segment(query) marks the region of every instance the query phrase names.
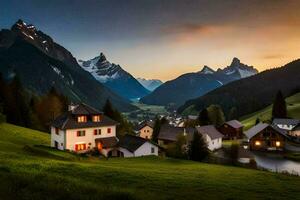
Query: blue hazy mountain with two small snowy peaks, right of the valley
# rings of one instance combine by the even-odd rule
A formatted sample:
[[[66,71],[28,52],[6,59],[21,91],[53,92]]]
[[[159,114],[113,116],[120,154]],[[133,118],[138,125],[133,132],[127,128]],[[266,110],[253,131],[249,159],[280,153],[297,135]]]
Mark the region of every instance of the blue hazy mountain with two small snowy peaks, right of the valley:
[[[178,107],[185,101],[199,97],[223,86],[231,81],[256,74],[252,66],[245,65],[239,59],[233,58],[232,63],[224,69],[213,69],[204,66],[199,72],[187,73],[167,81],[141,101],[154,105],[174,105]]]

